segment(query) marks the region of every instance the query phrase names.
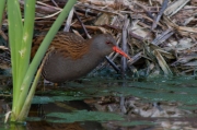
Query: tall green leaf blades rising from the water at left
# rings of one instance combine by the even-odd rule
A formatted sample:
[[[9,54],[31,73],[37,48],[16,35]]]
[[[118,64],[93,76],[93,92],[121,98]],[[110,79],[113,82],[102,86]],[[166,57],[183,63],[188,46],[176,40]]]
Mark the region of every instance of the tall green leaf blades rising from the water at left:
[[[35,72],[50,44],[65,21],[69,11],[77,0],[69,0],[62,12],[59,14],[50,31],[43,40],[34,59],[30,64],[30,55],[32,38],[34,32],[35,2],[36,0],[25,0],[24,16],[20,9],[19,0],[8,0],[8,23],[9,23],[9,42],[11,49],[11,62],[13,74],[13,104],[12,121],[24,121],[36,88],[40,70],[34,79]],[[2,19],[5,0],[0,1],[0,19]],[[22,21],[24,17],[24,22]],[[32,87],[31,87],[32,84]]]

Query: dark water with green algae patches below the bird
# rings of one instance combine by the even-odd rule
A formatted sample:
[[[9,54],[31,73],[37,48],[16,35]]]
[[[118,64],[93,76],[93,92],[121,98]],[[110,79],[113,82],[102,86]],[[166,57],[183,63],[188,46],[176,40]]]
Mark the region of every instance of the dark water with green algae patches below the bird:
[[[0,130],[197,129],[197,81],[193,76],[142,81],[89,78],[38,86],[26,123]]]

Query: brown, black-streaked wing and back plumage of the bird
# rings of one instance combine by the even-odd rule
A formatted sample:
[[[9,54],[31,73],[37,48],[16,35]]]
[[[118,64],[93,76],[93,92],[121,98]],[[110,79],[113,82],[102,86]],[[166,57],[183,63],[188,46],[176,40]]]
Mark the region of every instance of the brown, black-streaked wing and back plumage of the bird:
[[[44,37],[44,35],[40,35],[33,40],[31,58],[34,57]],[[62,54],[66,58],[79,59],[89,51],[90,43],[85,43],[85,39],[73,33],[60,32],[57,33],[50,43],[49,48],[51,47],[55,48],[54,51]]]

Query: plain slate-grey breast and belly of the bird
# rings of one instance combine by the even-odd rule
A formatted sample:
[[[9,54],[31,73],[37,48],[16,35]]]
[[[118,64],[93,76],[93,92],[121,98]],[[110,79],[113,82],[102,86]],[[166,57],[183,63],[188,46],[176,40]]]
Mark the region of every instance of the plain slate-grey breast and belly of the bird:
[[[86,54],[81,58],[73,59],[56,52],[47,58],[43,68],[43,76],[57,83],[76,80],[92,71],[102,59],[94,54]]]

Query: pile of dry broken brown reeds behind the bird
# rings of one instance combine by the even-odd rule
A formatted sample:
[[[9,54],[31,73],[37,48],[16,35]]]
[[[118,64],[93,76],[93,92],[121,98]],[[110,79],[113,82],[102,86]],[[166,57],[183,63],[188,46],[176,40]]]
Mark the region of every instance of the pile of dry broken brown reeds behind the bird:
[[[35,29],[46,32],[66,1],[38,0]],[[22,9],[23,4],[21,0]],[[194,74],[196,5],[196,0],[79,0],[62,28],[84,38],[97,33],[113,34],[132,58],[127,64],[134,73],[140,70],[144,75]],[[0,34],[7,40],[5,32],[7,27]]]

